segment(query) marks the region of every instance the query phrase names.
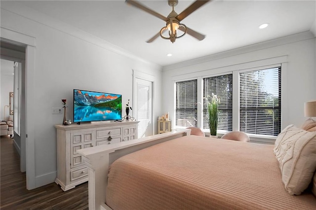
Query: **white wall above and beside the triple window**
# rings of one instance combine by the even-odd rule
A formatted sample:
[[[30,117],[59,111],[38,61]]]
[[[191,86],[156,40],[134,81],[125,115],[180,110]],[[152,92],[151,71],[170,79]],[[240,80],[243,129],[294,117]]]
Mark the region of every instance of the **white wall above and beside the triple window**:
[[[300,126],[306,119],[304,102],[316,100],[315,48],[315,36],[306,32],[170,65],[163,68],[162,92],[173,90],[177,79],[271,65],[283,59],[282,128],[289,124]],[[170,112],[175,128],[174,94],[164,95],[166,101],[169,103],[163,103],[162,110]]]

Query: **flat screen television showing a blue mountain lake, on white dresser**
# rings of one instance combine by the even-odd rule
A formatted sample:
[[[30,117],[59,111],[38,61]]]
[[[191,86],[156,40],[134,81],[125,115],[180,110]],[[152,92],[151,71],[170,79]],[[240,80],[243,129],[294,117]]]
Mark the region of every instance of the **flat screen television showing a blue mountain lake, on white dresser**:
[[[122,96],[74,89],[74,122],[120,120]]]

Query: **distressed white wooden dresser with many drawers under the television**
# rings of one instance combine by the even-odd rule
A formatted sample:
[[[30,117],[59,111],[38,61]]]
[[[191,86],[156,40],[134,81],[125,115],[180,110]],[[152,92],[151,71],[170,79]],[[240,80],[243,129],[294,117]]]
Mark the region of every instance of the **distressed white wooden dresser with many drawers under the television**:
[[[137,121],[55,125],[57,177],[64,191],[88,181],[88,169],[77,150],[101,144],[137,139]]]

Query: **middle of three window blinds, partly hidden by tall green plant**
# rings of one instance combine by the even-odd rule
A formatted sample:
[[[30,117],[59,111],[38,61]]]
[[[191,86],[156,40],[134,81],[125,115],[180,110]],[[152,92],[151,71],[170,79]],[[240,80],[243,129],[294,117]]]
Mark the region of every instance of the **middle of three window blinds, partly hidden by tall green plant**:
[[[209,129],[207,100],[212,93],[220,99],[217,130],[233,130],[233,74],[203,78],[203,128]]]

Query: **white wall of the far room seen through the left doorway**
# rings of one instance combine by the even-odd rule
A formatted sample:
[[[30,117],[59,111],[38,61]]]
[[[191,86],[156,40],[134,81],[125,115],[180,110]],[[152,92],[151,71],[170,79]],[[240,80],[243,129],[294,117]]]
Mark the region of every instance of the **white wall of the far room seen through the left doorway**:
[[[6,120],[9,117],[9,107],[5,107],[5,119],[4,119],[4,105],[10,105],[9,92],[13,92],[13,61],[6,61],[1,59],[0,69],[0,90],[1,90],[1,101],[0,101],[0,119]],[[12,116],[13,118],[13,116]]]

